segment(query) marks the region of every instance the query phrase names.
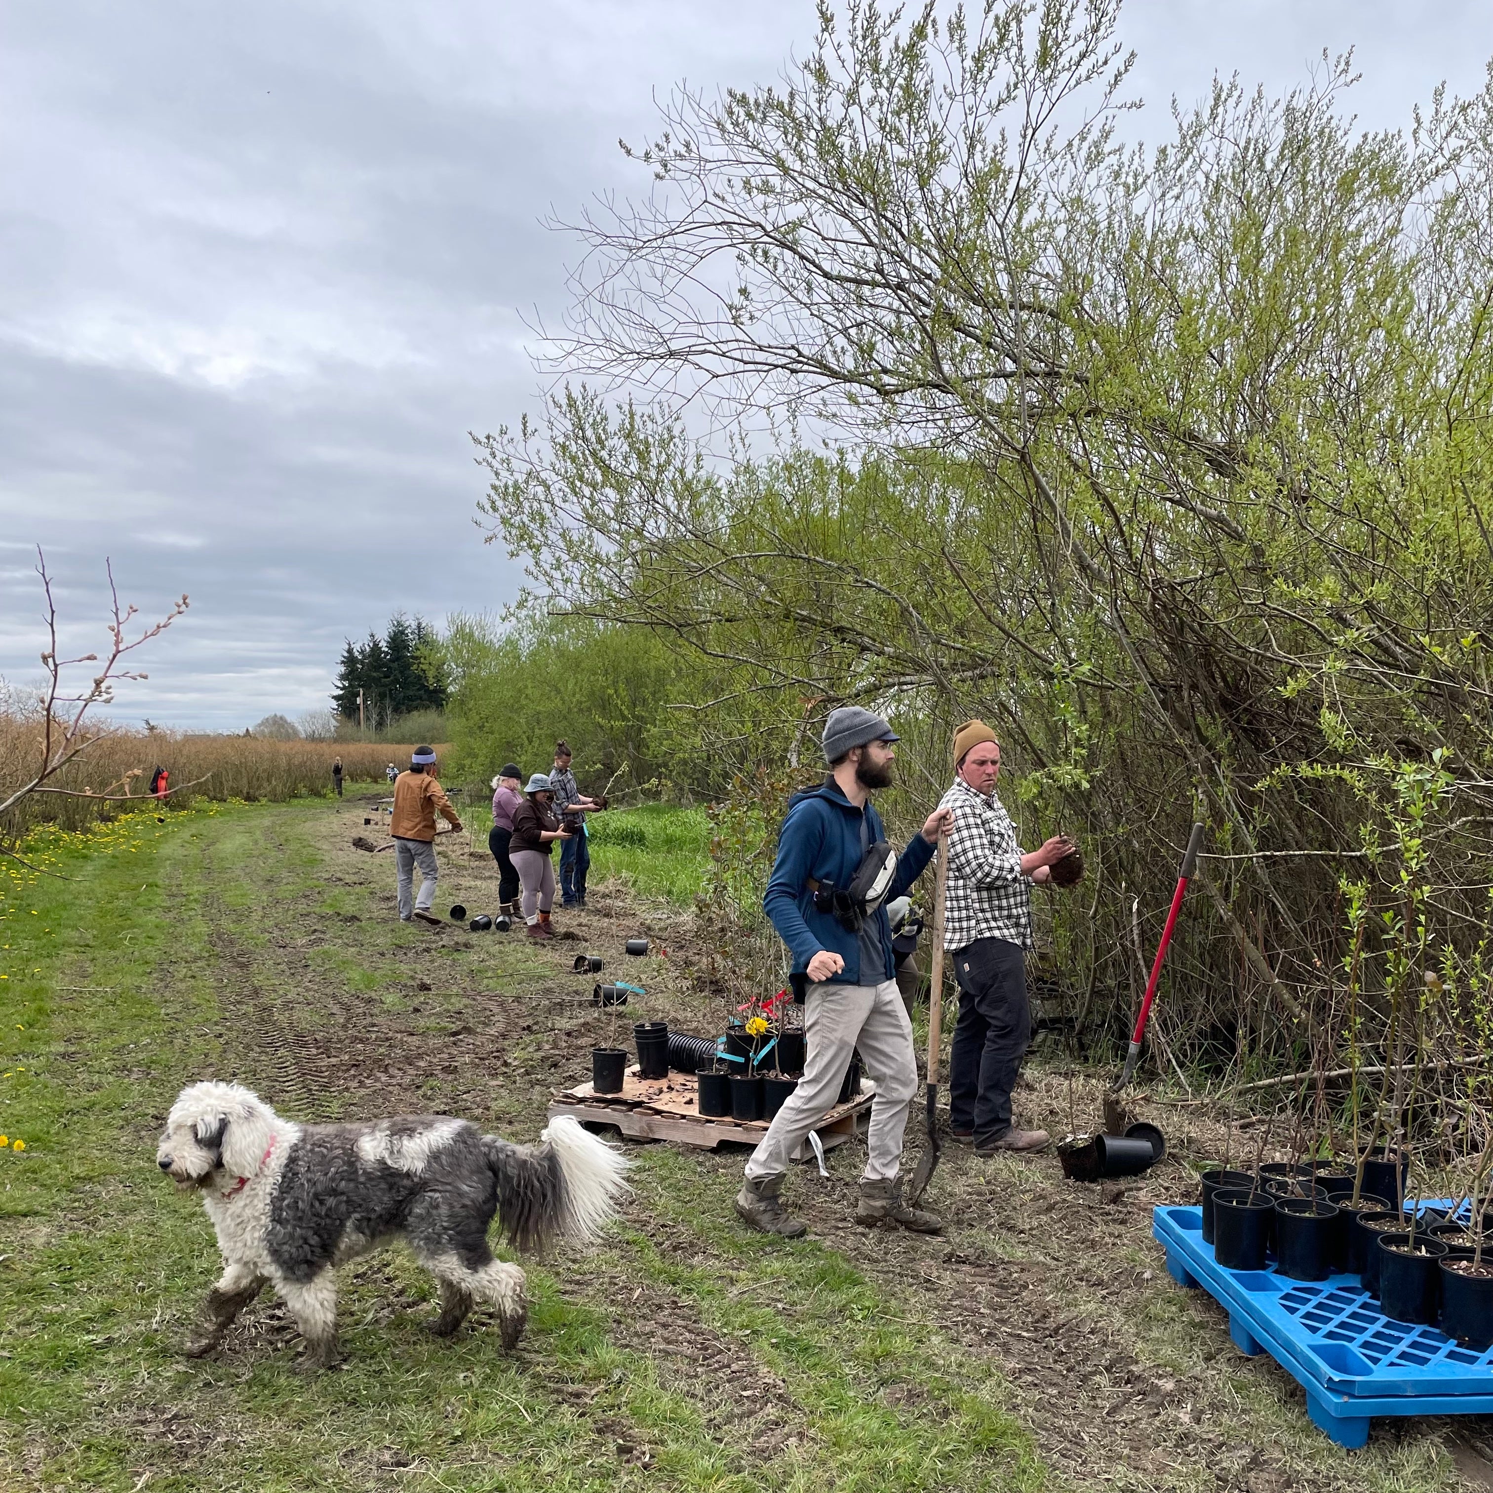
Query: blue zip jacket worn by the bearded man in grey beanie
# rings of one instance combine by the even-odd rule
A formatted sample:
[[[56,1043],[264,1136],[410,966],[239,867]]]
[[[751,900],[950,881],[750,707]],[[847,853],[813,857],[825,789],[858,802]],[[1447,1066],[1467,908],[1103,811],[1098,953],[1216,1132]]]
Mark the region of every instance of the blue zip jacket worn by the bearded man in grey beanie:
[[[860,938],[841,927],[833,912],[820,912],[814,906],[814,893],[808,885],[811,876],[842,888],[850,885],[863,854],[860,841],[863,815],[866,844],[873,845],[885,839],[887,832],[876,809],[870,803],[864,811],[857,809],[833,778],[826,778],[818,788],[796,793],[788,802],[788,814],[778,833],[778,860],[773,863],[761,905],[772,918],[778,936],[788,945],[796,975],[809,967],[809,960],[820,950],[829,950],[845,960],[845,969],[835,976],[836,981],[850,985],[876,985],[896,975],[885,903],[900,897],[918,879],[923,867],[933,858],[933,847],[921,835],[912,836],[897,860],[891,890],[876,908],[873,926],[881,933],[885,957],[885,967],[881,970],[861,970]]]

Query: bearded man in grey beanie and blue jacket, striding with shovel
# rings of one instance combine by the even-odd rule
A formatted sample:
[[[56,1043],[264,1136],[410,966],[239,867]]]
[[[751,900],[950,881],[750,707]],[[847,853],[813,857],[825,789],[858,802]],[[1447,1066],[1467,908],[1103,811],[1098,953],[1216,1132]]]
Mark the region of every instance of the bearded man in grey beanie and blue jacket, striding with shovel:
[[[870,791],[890,785],[896,741],[870,711],[832,711],[824,724],[830,775],[793,796],[778,836],[763,908],[793,956],[794,985],[803,988],[808,1054],[803,1078],[746,1162],[736,1197],[736,1212],[764,1233],[793,1239],[806,1230],[782,1208],[782,1179],[788,1159],[835,1106],[857,1048],[876,1091],[855,1221],[920,1233],[942,1227],[933,1214],[905,1206],[897,1179],[918,1066],[885,903],[923,873],[954,814],[935,809],[893,861]]]

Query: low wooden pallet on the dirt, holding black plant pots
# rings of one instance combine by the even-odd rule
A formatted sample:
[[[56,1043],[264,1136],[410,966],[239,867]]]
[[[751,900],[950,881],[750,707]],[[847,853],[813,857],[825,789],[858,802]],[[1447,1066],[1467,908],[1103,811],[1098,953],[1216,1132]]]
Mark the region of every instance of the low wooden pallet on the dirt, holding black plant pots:
[[[863,1078],[861,1091],[850,1103],[836,1105],[815,1126],[826,1151],[864,1135],[875,1090],[876,1085]],[[615,1126],[630,1141],[678,1141],[708,1151],[714,1151],[723,1141],[757,1145],[767,1133],[766,1120],[702,1115],[694,1073],[639,1078],[636,1063],[623,1075],[620,1094],[599,1094],[590,1084],[578,1084],[554,1096],[549,1115],[575,1115],[585,1126]],[[805,1162],[812,1156],[814,1151],[805,1141],[793,1159]]]

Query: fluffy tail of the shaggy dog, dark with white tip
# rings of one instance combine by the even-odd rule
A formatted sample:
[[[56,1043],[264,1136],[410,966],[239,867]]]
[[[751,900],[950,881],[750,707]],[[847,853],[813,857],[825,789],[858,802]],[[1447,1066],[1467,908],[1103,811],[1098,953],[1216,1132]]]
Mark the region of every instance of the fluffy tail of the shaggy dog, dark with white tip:
[[[555,1115],[539,1139],[533,1147],[482,1136],[497,1178],[499,1227],[520,1250],[557,1239],[588,1244],[617,1217],[632,1162],[573,1115]]]

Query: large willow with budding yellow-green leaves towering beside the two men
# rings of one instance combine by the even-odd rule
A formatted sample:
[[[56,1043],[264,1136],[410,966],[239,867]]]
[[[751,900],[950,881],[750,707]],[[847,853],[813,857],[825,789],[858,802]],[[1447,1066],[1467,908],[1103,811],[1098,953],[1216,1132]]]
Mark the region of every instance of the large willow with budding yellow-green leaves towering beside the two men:
[[[1194,1036],[1280,1044],[1321,1026],[1345,884],[1387,999],[1393,920],[1454,944],[1490,879],[1493,87],[1362,134],[1324,63],[1126,146],[1115,30],[850,3],[781,87],[675,93],[646,196],[573,225],[555,345],[593,387],[487,439],[493,512],[542,496],[518,548],[572,558],[560,605],[784,720],[900,697],[1017,736],[1032,814],[1099,851],[1096,1009],[1209,820]],[[691,400],[855,454],[808,493],[803,452],[723,470]]]

